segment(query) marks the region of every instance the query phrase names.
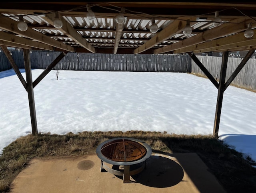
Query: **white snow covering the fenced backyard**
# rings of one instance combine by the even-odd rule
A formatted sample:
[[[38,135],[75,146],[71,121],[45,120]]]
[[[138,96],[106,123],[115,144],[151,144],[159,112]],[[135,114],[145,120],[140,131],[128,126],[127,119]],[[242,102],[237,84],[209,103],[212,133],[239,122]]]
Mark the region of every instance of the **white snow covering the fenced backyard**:
[[[26,80],[24,69],[20,69]],[[32,69],[33,81],[43,72]],[[0,152],[32,133],[28,94],[13,69],[0,72]],[[38,132],[128,130],[212,134],[218,89],[187,73],[52,70],[34,88]],[[224,92],[219,139],[256,161],[256,93]]]

